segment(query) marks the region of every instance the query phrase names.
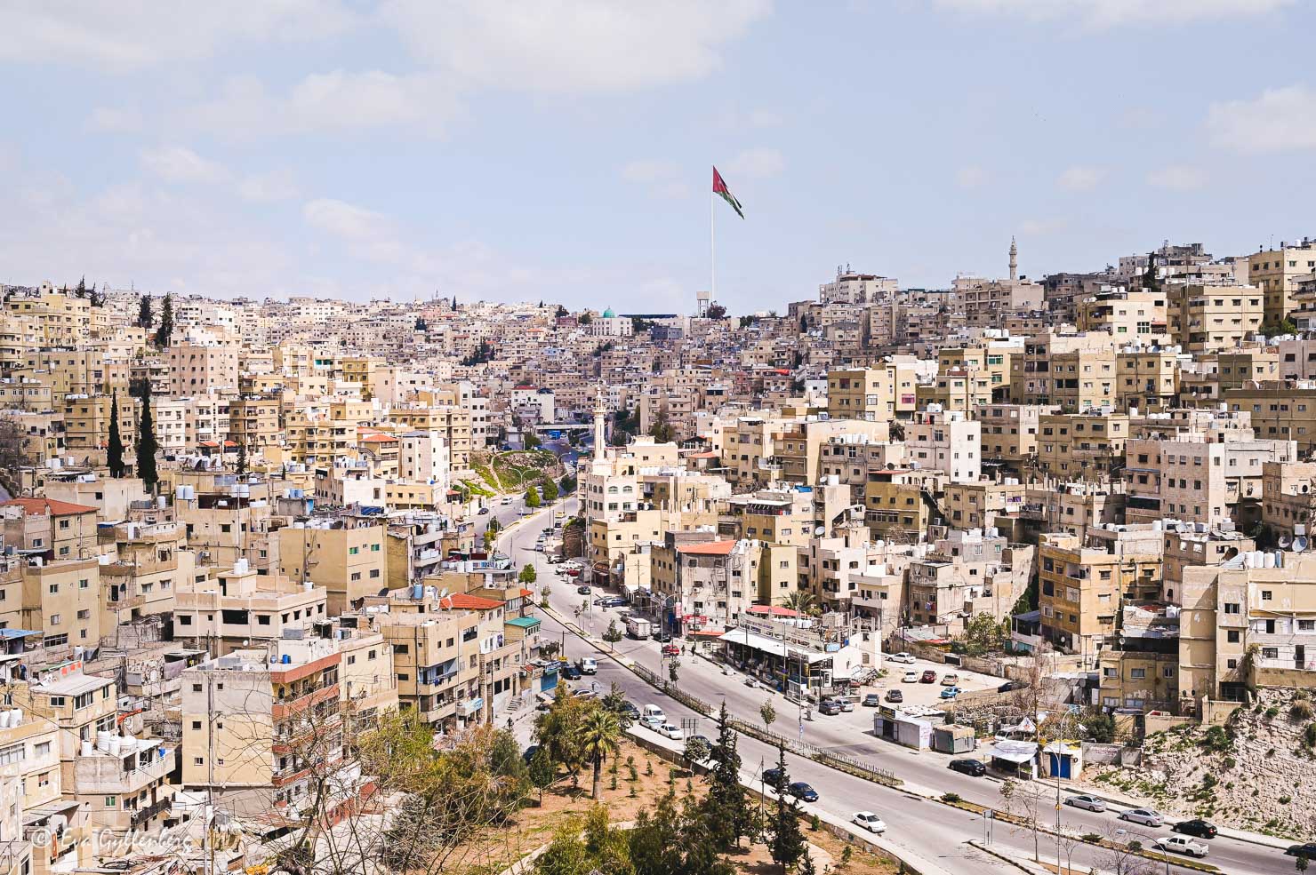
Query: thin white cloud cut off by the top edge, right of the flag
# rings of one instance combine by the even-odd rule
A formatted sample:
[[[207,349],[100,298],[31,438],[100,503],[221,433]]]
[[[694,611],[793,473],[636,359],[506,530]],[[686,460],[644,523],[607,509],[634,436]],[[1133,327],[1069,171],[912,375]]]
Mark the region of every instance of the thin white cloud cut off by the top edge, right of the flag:
[[[1263,16],[1296,0],[937,0],[971,14],[1007,14],[1034,21],[1078,21],[1092,30],[1126,25],[1186,24]]]

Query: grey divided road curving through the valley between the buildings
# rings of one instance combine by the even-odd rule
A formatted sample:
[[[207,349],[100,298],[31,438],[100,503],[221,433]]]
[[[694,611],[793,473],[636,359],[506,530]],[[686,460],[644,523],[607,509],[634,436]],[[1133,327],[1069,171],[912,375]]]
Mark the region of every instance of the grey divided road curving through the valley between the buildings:
[[[569,507],[574,501],[569,502]],[[533,562],[538,573],[537,587],[550,585],[550,604],[562,615],[572,616],[575,608],[580,607],[586,598],[576,593],[576,585],[559,578],[555,566],[547,565],[544,556],[534,550],[534,541],[541,531],[549,526],[547,514],[537,514],[526,518],[520,526],[509,532],[500,547],[512,556],[517,564]],[[608,625],[608,620],[619,616],[616,610],[600,610],[582,612],[579,625],[600,636]],[[547,614],[541,614],[542,635],[547,639],[565,641],[566,654],[575,660],[580,656],[595,656],[599,660],[599,674],[592,678],[597,681],[600,688],[608,688],[611,683],[617,683],[626,696],[637,706],[661,706],[669,717],[675,721],[683,719],[697,720],[697,733],[715,737],[717,734],[713,721],[703,715],[684,708],[678,702],[659,694],[657,690],[644,683],[632,671],[617,663],[615,660],[604,658],[594,648],[570,631],[565,629]],[[621,625],[619,623],[619,625]],[[657,642],[622,640],[617,645],[621,656],[636,660],[651,670],[666,674],[661,669],[661,660]],[[888,666],[894,667],[894,666]],[[901,669],[904,666],[900,666]],[[915,666],[920,670],[921,663]],[[938,666],[944,669],[945,666]],[[891,673],[899,678],[900,673]],[[759,721],[759,707],[770,699],[778,713],[778,723],[772,727],[779,732],[797,730],[797,707],[788,703],[783,696],[769,692],[762,687],[750,688],[744,683],[744,675],[724,675],[721,669],[703,660],[686,656],[680,661],[679,684],[686,692],[699,696],[705,702],[725,702],[728,709],[746,721]],[[891,686],[899,686],[896,679]],[[921,752],[916,753],[900,748],[887,741],[875,738],[871,734],[871,709],[857,708],[851,713],[837,717],[824,717],[816,715],[812,721],[803,721],[804,740],[820,748],[834,749],[850,755],[861,757],[875,766],[888,769],[909,784],[916,784],[936,792],[955,792],[970,801],[986,805],[1004,807],[999,795],[1000,783],[994,779],[971,778],[951,771],[946,767],[951,757]],[[521,721],[520,732],[522,742],[529,741],[529,721]],[[759,773],[759,763],[774,763],[776,749],[758,742],[749,737],[740,738],[740,753],[746,767],[753,775]],[[915,853],[933,859],[951,872],[984,872],[1009,871],[1004,863],[983,854],[980,850],[966,845],[970,838],[983,838],[984,821],[978,815],[971,815],[949,805],[912,797],[909,794],[892,790],[861,778],[854,778],[845,773],[821,766],[809,759],[788,755],[791,776],[796,780],[807,780],[815,786],[821,799],[816,803],[824,811],[842,819],[849,819],[855,811],[876,811],[887,821],[887,838],[898,845],[909,847]],[[1038,794],[1038,808],[1044,813],[1040,820],[1044,824],[1054,824],[1055,819],[1055,791],[1046,786],[1032,784],[1029,788]],[[1070,795],[1062,790],[1062,797]],[[1117,807],[1112,807],[1105,813],[1087,812],[1065,805],[1061,811],[1061,824],[1066,829],[1076,832],[1112,833],[1119,826],[1126,826],[1130,832],[1148,832],[1155,837],[1169,836],[1167,829],[1149,829],[1116,820]],[[929,829],[934,826],[934,829]],[[1017,854],[1032,857],[1033,837],[1028,830],[1017,830],[1005,824],[996,824],[992,834],[995,846],[1009,847]],[[1044,859],[1055,859],[1055,840],[1045,833],[1040,838]],[[1240,875],[1259,875],[1262,872],[1292,871],[1292,861],[1282,851],[1242,842],[1230,838],[1216,838],[1209,842],[1211,855],[1208,862],[1220,867],[1225,872],[1238,872]],[[1073,862],[1082,864],[1084,870],[1091,866],[1101,867],[1100,851],[1091,846],[1079,846],[1073,853]],[[1062,857],[1066,851],[1062,850]],[[1159,864],[1158,864],[1159,868]],[[1190,871],[1175,866],[1175,871]],[[1017,870],[1013,870],[1017,871]]]

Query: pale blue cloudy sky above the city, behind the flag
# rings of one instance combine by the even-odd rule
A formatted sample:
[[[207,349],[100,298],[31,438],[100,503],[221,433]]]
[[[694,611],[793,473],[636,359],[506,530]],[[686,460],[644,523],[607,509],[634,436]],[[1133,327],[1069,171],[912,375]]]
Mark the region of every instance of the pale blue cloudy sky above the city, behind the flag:
[[[715,221],[746,313],[1244,254],[1316,235],[1313,7],[0,0],[0,282],[691,311]]]

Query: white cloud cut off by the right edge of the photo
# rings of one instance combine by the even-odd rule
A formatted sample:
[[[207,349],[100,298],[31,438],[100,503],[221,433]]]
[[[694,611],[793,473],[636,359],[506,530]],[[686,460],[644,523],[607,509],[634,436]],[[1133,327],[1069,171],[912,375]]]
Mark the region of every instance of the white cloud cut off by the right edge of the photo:
[[[1207,130],[1213,145],[1240,152],[1316,148],[1316,91],[1290,85],[1255,100],[1211,104]]]

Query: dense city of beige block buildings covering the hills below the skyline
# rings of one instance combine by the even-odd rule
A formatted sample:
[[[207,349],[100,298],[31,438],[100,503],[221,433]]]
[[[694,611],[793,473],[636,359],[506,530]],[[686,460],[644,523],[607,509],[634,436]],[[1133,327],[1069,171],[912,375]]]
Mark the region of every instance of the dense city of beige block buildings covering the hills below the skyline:
[[[4,286],[4,863],[1300,871],[1316,240],[1001,254],[746,314]],[[629,868],[504,834],[619,773],[674,791]]]

